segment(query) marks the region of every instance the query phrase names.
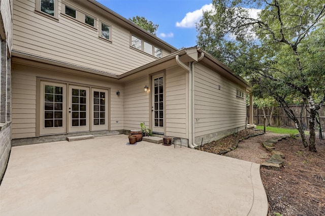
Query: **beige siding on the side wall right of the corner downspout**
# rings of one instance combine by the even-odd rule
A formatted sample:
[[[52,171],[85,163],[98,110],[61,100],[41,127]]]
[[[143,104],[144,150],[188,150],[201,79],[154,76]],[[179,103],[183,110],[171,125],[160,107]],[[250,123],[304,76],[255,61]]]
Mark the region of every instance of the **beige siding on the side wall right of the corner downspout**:
[[[237,89],[245,93],[244,88],[202,64],[195,67],[194,88],[196,137],[245,126],[246,99],[236,97]]]

